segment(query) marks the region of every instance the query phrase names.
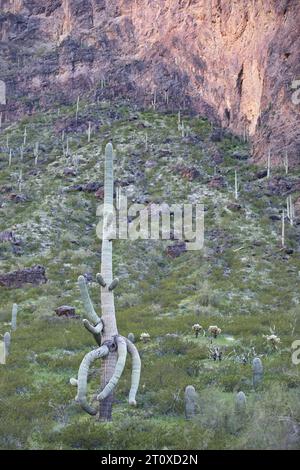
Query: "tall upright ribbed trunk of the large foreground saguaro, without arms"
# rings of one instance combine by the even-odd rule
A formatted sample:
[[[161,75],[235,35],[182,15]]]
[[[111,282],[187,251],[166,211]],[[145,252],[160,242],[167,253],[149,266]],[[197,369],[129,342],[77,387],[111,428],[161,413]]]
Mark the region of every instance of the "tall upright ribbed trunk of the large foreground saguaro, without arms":
[[[115,303],[113,290],[109,286],[113,280],[112,273],[112,240],[111,224],[113,220],[113,147],[108,144],[105,149],[105,179],[104,179],[104,211],[103,211],[103,234],[102,234],[102,253],[101,253],[101,274],[105,279],[106,286],[101,287],[101,308],[102,321],[104,323],[104,332],[102,344],[111,340],[118,334],[117,322],[115,316]],[[116,368],[117,352],[111,352],[104,358],[101,366],[101,389],[111,379]],[[113,393],[100,401],[99,418],[104,421],[111,420],[113,404]]]

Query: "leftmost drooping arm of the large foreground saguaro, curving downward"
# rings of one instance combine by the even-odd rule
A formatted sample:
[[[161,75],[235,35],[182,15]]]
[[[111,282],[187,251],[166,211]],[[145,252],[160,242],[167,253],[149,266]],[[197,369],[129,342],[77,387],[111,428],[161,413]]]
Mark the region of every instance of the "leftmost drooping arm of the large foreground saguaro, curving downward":
[[[77,380],[77,395],[75,397],[75,400],[81,405],[84,411],[89,413],[90,415],[95,415],[97,414],[97,409],[93,408],[90,406],[87,402],[86,398],[86,393],[87,393],[87,377],[88,377],[88,372],[90,365],[96,360],[99,359],[100,357],[107,356],[109,353],[108,347],[107,346],[101,346],[101,348],[94,349],[93,351],[90,351],[87,353],[79,367],[78,371],[78,380]],[[72,380],[72,382],[75,384],[75,380]]]

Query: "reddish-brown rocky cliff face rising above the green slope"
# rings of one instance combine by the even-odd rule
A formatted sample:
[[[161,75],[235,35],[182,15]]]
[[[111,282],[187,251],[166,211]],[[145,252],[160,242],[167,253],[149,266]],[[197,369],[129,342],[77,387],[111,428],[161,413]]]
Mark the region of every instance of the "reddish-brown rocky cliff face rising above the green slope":
[[[190,108],[299,164],[299,0],[1,0],[6,120],[122,96]],[[297,83],[294,83],[297,86]],[[300,83],[299,83],[300,88]]]

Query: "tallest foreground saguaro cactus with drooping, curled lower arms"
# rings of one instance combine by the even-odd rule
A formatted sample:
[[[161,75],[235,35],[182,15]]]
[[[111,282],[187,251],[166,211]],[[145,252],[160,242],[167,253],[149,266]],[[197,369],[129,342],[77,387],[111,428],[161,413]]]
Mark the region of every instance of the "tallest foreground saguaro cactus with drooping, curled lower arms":
[[[103,359],[101,365],[101,392],[98,394],[97,399],[100,402],[99,418],[104,421],[111,420],[113,390],[124,370],[127,352],[132,357],[130,405],[136,405],[135,396],[141,371],[139,353],[128,338],[119,335],[115,315],[113,290],[118,284],[118,279],[113,279],[112,270],[113,154],[112,144],[107,144],[105,148],[101,273],[96,276],[101,287],[101,318],[94,310],[84,276],[78,278],[81,297],[88,317],[88,319],[83,320],[83,324],[93,334],[99,347],[85,355],[79,367],[78,379],[72,378],[70,380],[72,385],[77,386],[76,400],[87,413],[96,415],[97,408],[87,402],[87,379],[90,365],[96,359]]]

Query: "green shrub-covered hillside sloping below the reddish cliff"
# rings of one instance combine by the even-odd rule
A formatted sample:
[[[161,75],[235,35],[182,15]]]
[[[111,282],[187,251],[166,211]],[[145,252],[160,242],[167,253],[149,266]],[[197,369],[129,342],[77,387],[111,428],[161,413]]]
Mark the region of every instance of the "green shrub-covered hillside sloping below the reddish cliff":
[[[247,159],[247,144],[200,117],[181,116],[183,137],[177,114],[141,112],[118,100],[80,102],[77,119],[75,114],[75,106],[39,113],[0,137],[2,283],[5,273],[34,265],[43,266],[47,278],[40,285],[0,285],[0,334],[10,328],[13,302],[19,304],[11,354],[0,366],[0,447],[299,447],[299,366],[291,361],[291,343],[300,334],[298,172],[285,175],[279,168],[263,177],[264,169]],[[118,386],[113,424],[103,425],[80,410],[69,385],[92,346],[90,335],[81,321],[57,317],[54,310],[71,305],[78,317],[83,314],[79,274],[89,279],[99,308],[96,208],[103,197],[108,140],[116,148],[116,178],[130,202],[204,203],[205,246],[189,252],[175,241],[114,242],[118,326],[124,335],[135,334],[143,370],[138,407],[126,403],[128,368]],[[296,219],[293,227],[286,220],[282,249],[281,211],[288,195]],[[222,334],[196,339],[196,322],[206,331],[217,324]],[[264,338],[270,328],[281,339],[278,349]],[[143,331],[149,343],[139,341]],[[211,358],[214,345],[222,348],[221,362]],[[256,391],[254,355],[265,370]],[[95,391],[97,367],[90,379]],[[188,384],[201,400],[191,422],[183,418]],[[239,390],[248,400],[242,421],[234,410]]]

